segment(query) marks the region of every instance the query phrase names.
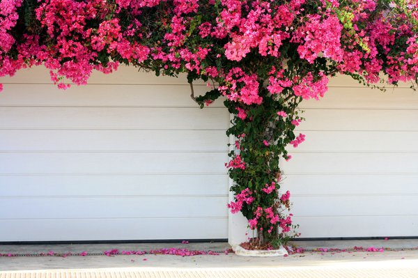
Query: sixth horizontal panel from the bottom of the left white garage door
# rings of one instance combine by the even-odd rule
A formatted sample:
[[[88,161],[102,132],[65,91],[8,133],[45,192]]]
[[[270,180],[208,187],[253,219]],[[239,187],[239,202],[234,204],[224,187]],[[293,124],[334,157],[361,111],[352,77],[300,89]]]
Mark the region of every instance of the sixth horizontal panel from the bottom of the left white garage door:
[[[0,129],[226,130],[223,108],[0,107]]]

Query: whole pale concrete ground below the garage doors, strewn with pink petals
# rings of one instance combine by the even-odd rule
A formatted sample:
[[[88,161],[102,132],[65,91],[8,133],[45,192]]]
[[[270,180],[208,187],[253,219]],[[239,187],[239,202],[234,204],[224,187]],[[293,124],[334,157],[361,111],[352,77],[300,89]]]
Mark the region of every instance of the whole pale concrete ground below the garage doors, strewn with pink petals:
[[[226,243],[124,245],[0,245],[1,254],[54,251],[95,256],[0,257],[0,278],[139,278],[139,277],[411,277],[418,278],[418,240],[295,242],[304,249],[391,248],[383,252],[304,252],[287,257],[248,258],[224,254]],[[219,256],[118,255],[105,250],[167,247],[219,252]]]

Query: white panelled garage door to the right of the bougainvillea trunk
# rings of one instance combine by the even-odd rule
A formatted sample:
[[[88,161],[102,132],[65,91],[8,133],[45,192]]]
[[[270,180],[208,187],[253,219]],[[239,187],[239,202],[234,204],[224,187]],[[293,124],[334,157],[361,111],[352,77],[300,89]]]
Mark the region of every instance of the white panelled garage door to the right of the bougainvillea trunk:
[[[304,103],[283,184],[303,238],[418,235],[418,92],[348,78]]]

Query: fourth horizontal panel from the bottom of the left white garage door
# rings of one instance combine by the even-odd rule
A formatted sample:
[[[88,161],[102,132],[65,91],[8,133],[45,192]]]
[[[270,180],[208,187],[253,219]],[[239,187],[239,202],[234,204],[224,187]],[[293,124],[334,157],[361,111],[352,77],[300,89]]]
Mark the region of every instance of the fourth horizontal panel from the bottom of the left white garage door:
[[[226,173],[225,153],[0,153],[0,173]]]

